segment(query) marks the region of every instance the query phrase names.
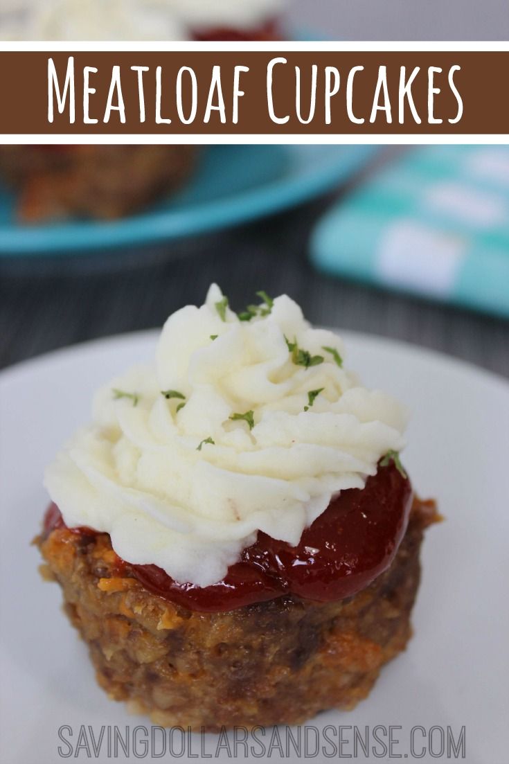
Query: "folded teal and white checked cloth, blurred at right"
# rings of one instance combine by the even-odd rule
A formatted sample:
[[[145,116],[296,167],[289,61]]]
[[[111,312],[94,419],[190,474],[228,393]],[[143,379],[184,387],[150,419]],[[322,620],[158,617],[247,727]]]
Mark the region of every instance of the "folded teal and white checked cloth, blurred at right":
[[[313,231],[321,270],[509,317],[509,147],[404,154]]]

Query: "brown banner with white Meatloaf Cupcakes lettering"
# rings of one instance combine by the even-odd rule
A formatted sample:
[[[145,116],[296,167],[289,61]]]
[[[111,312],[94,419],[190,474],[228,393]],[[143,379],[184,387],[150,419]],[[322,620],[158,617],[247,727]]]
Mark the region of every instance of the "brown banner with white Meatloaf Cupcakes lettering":
[[[0,134],[509,134],[509,52],[0,52]]]

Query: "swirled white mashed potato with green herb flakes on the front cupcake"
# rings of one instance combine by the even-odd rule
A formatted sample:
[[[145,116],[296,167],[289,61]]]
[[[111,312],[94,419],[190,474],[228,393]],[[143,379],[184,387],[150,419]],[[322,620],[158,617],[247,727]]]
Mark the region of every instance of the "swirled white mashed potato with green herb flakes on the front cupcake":
[[[127,562],[208,586],[259,530],[297,545],[341,490],[404,446],[397,401],[343,366],[341,339],[283,295],[238,315],[212,285],[167,319],[155,363],[96,393],[47,468],[68,526]]]

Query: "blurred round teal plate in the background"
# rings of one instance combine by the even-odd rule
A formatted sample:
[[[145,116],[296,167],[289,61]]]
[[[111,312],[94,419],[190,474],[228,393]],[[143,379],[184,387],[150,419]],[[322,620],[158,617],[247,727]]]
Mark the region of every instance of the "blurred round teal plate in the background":
[[[101,252],[201,234],[280,212],[326,193],[371,159],[375,146],[225,145],[203,149],[180,193],[141,215],[21,225],[15,196],[0,186],[0,256]]]

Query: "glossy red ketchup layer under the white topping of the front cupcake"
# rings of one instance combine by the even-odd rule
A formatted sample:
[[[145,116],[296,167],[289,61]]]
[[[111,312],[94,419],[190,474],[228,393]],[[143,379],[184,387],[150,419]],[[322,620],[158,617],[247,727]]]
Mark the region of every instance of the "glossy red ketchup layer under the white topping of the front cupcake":
[[[258,532],[253,545],[229,567],[222,581],[200,588],[179,584],[157,565],[131,565],[119,558],[119,571],[133,575],[153,594],[189,610],[216,612],[297,594],[314,601],[352,597],[389,565],[404,532],[412,500],[410,481],[394,464],[378,469],[363,490],[342,490],[291,547]],[[44,533],[65,528],[52,504]],[[94,533],[88,528],[76,533]]]

